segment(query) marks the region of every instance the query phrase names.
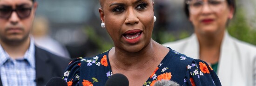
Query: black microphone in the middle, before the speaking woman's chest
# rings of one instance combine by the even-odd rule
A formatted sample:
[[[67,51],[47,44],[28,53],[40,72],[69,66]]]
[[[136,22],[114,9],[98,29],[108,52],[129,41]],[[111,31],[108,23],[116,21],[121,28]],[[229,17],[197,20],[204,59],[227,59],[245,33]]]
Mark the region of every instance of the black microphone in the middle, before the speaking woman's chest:
[[[123,74],[116,73],[110,76],[105,86],[129,86],[129,81]]]

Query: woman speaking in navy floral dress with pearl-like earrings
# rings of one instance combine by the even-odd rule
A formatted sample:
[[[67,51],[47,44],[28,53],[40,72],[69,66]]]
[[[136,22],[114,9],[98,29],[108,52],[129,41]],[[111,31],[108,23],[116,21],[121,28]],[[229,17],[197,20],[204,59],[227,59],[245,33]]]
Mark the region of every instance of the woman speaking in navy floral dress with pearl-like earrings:
[[[63,79],[68,86],[104,86],[115,73],[129,86],[154,86],[172,80],[181,86],[221,86],[216,73],[202,60],[194,60],[151,39],[153,0],[100,0],[102,27],[115,47],[91,58],[77,58]],[[104,45],[104,43],[102,43]]]

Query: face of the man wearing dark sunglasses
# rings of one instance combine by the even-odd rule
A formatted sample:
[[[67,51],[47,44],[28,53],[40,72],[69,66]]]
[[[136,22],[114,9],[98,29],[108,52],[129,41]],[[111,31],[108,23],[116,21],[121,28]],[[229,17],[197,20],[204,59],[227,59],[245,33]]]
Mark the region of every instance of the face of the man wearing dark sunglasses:
[[[32,0],[0,0],[0,42],[26,40],[36,8]]]

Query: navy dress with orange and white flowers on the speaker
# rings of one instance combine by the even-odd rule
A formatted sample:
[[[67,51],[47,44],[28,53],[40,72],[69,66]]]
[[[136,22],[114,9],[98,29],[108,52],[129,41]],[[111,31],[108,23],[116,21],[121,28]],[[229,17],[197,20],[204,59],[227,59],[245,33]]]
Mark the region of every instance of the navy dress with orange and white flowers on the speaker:
[[[168,79],[180,86],[221,86],[213,69],[202,60],[194,60],[171,48],[143,86],[154,86],[157,80]],[[77,58],[69,63],[62,77],[68,86],[104,86],[113,75],[108,52],[91,58]]]

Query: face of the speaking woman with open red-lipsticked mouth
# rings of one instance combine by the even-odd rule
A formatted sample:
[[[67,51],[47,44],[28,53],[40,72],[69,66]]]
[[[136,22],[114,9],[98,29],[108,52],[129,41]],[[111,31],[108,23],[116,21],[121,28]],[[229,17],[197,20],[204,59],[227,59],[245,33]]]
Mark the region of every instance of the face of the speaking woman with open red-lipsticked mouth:
[[[101,20],[115,48],[138,52],[148,46],[154,27],[152,0],[101,0]]]

